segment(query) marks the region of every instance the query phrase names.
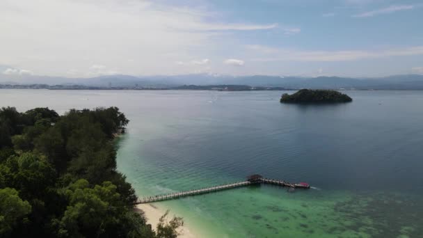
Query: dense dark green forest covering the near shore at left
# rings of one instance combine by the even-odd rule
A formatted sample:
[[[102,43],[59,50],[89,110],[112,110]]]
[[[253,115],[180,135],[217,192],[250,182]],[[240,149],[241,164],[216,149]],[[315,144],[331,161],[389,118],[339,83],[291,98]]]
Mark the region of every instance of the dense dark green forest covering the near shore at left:
[[[152,230],[116,170],[113,138],[128,122],[116,107],[1,108],[0,237],[177,237],[182,220]]]

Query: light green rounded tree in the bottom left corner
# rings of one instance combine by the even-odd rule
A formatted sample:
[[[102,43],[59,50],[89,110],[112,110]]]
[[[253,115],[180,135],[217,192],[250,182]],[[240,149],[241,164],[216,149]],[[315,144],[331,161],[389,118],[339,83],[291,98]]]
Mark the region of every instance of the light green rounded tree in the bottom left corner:
[[[0,189],[0,236],[10,233],[31,212],[31,205],[15,189]]]

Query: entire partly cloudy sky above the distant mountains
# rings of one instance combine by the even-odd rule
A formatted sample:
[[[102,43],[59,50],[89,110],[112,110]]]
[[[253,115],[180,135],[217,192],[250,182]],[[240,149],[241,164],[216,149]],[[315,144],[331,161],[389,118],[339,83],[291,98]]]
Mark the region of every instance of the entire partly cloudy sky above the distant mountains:
[[[423,1],[1,0],[0,74],[423,74]]]

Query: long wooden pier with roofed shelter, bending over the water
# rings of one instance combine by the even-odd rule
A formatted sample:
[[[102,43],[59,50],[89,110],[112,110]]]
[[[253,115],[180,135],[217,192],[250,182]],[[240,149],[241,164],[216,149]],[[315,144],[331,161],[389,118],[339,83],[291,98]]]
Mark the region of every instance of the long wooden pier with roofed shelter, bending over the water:
[[[247,180],[241,181],[241,182],[234,182],[232,184],[222,184],[222,185],[216,185],[212,187],[206,187],[202,189],[195,189],[190,191],[182,191],[182,192],[176,192],[176,193],[168,193],[164,195],[157,195],[157,196],[149,196],[145,198],[138,199],[136,204],[142,204],[142,203],[154,203],[159,202],[163,200],[172,200],[176,198],[182,198],[186,196],[195,196],[205,193],[213,193],[216,191],[222,191],[226,189],[234,189],[239,187],[245,187],[251,184],[273,184],[281,187],[290,187],[290,189],[309,189],[310,185],[306,183],[298,183],[298,184],[292,184],[289,182],[285,182],[283,180],[272,180],[268,178],[264,178],[261,175],[250,175],[247,177]]]

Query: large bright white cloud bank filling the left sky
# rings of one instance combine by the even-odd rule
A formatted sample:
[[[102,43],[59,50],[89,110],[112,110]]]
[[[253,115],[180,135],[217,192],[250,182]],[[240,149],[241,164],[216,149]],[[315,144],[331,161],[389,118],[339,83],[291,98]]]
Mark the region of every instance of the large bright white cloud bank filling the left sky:
[[[75,77],[99,70],[184,74],[193,69],[178,67],[175,62],[181,59],[227,58],[221,49],[237,37],[232,31],[280,28],[273,22],[216,21],[228,18],[207,8],[177,7],[166,1],[1,0],[0,64],[45,75],[66,75],[72,69]],[[87,68],[95,62],[113,70]]]

